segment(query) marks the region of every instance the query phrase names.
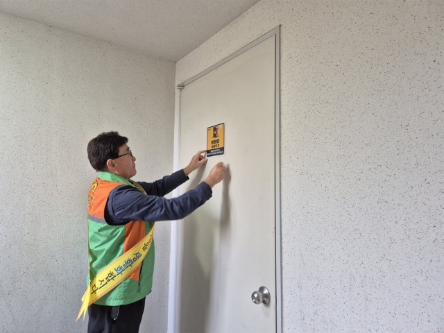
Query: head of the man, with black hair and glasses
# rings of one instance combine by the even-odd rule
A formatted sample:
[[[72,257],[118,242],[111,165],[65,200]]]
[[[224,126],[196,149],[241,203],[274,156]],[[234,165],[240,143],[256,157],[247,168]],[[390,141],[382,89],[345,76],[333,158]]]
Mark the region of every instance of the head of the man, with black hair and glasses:
[[[117,132],[101,133],[87,146],[88,160],[96,171],[109,171],[123,178],[135,176],[136,158],[130,151],[127,137]]]

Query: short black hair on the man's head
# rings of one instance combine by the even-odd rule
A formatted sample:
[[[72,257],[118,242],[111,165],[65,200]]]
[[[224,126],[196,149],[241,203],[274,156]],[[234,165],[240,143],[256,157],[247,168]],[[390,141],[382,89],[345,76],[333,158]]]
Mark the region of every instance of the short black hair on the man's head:
[[[119,148],[128,142],[117,132],[104,132],[88,142],[88,160],[96,171],[105,171],[106,161],[119,157]]]

